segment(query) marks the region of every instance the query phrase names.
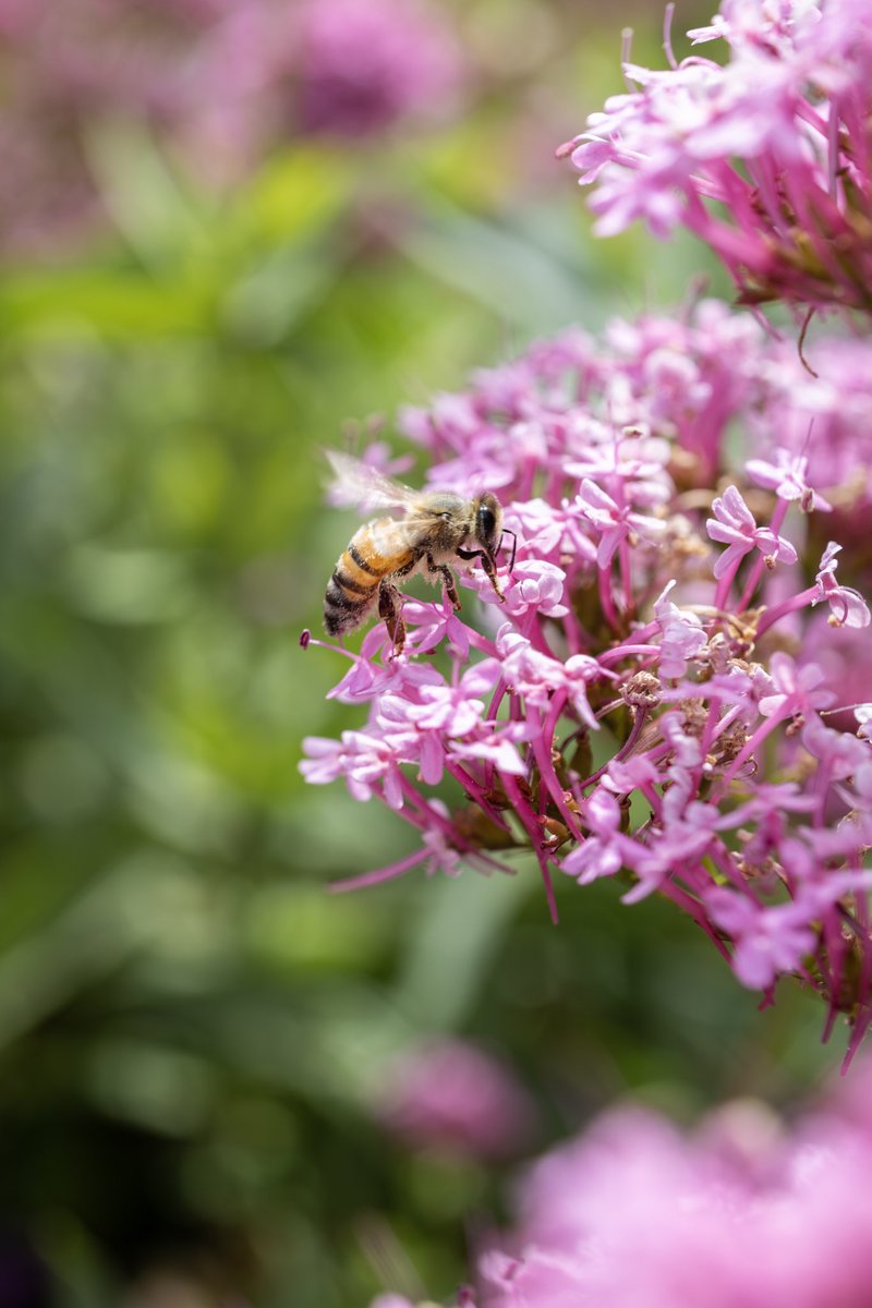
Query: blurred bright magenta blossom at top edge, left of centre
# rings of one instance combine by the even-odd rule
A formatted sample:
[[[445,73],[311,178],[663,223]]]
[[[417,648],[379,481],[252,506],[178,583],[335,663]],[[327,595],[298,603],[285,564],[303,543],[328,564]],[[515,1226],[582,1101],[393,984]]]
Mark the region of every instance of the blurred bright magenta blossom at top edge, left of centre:
[[[239,171],[301,136],[363,140],[444,118],[467,69],[428,0],[248,0],[192,52],[183,124],[213,173]]]

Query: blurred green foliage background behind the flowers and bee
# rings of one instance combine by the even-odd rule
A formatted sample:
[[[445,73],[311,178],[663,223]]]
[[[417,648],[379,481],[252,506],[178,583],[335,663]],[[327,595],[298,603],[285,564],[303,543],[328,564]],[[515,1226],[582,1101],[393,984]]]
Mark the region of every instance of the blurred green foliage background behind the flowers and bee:
[[[229,14],[299,5],[61,8],[0,5],[0,1303],[447,1296],[515,1160],[386,1134],[373,1104],[422,1037],[499,1054],[528,1152],[630,1092],[790,1101],[841,1054],[813,1002],[758,1015],[689,921],[614,886],[558,887],[558,929],[526,866],[329,896],[413,841],[297,772],[303,735],[362,718],[298,646],[354,522],[320,449],[701,271],[726,293],[690,243],[595,241],[553,160],[621,89],[621,24],[659,65],[660,9],[443,5],[444,111],[315,129],[246,92],[269,129],[222,177],[188,131],[221,69],[191,68]],[[187,98],[143,94],[118,48]],[[299,109],[311,73],[272,90]]]

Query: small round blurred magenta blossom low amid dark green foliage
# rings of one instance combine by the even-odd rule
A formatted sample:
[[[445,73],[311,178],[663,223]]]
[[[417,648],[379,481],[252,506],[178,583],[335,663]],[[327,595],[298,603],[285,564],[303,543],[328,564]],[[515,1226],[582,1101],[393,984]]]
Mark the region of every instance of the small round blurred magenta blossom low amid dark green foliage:
[[[377,1113],[407,1144],[472,1159],[519,1154],[532,1103],[498,1058],[463,1040],[434,1040],[390,1066]]]

